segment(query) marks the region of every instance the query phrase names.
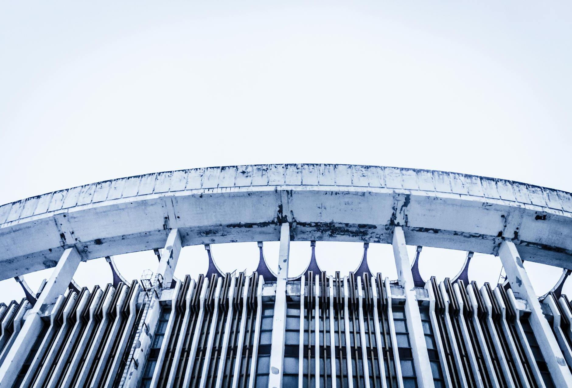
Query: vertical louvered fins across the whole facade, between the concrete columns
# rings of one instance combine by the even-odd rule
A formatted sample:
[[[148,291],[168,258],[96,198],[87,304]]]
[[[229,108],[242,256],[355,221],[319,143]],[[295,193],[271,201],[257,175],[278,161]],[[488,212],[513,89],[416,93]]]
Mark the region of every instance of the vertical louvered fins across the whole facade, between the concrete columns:
[[[300,314],[300,341],[290,346],[299,359],[297,383],[312,386],[318,381],[319,386],[337,388],[351,381],[353,386],[378,388],[414,380],[402,365],[415,349],[398,343],[394,322],[405,300],[398,289],[392,297],[388,279],[310,271],[289,284],[294,287],[289,288],[288,304]],[[186,276],[174,283],[164,339],[156,354],[149,354],[154,366],[145,386],[256,386],[263,285],[256,272],[201,275],[196,281]],[[485,283],[479,288],[475,282],[438,283],[431,278],[425,288],[428,300],[418,304],[422,320],[426,317],[424,334],[434,344],[428,353],[436,366],[436,386],[554,386],[528,316],[519,311],[522,304],[510,287]],[[130,350],[137,331],[144,330],[140,323],[148,302],[136,308],[140,291],[133,281],[61,295],[14,387],[121,386],[123,371],[133,362]],[[558,319],[546,318],[568,361],[570,302],[566,295],[549,294],[543,303],[558,310]],[[29,308],[26,299],[0,304],[0,363]]]

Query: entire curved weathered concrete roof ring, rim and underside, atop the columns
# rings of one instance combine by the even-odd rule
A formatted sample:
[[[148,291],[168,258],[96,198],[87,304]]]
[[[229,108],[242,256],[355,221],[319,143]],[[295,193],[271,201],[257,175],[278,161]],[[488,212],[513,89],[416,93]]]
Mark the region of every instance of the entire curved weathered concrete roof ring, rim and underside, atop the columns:
[[[572,268],[572,195],[459,173],[333,164],[162,172],[71,188],[0,207],[0,280],[53,267],[67,247],[84,260],[162,247],[279,240],[408,244]]]

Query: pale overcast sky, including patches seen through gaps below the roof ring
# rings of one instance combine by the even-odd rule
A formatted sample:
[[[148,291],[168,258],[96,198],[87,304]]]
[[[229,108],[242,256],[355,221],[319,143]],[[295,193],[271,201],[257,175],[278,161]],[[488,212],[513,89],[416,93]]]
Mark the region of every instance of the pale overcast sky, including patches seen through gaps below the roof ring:
[[[3,1],[0,203],[250,163],[440,169],[572,191],[571,18],[570,2]],[[303,270],[309,248],[297,245]],[[254,248],[213,252],[232,267]],[[387,248],[372,248],[370,265],[391,278]],[[318,249],[332,270],[361,248]],[[184,252],[178,274],[206,266],[202,247]],[[422,273],[454,276],[463,258],[427,248]],[[118,265],[138,278],[156,259]],[[561,272],[525,265],[538,294]],[[471,274],[494,282],[500,268],[480,257]],[[82,263],[76,280],[105,283],[106,271]],[[14,285],[0,282],[0,300],[21,297]]]

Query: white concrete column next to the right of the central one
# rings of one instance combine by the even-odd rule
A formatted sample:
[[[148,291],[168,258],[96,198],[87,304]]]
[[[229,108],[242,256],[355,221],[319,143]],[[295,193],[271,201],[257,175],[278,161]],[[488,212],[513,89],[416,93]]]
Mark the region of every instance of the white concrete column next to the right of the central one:
[[[429,362],[425,334],[421,323],[421,315],[419,314],[419,305],[415,296],[411,262],[407,255],[407,246],[402,227],[395,227],[394,229],[393,248],[398,280],[405,292],[405,316],[407,318],[407,327],[409,328],[409,339],[411,351],[413,352],[417,383],[420,388],[434,387],[431,363]]]

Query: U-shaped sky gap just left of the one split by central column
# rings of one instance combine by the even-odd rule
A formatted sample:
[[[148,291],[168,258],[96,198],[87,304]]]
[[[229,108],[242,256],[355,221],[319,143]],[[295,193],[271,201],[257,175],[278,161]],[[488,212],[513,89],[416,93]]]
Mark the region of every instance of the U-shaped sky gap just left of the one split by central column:
[[[210,244],[210,252],[222,274],[244,271],[250,275],[258,267],[260,253],[256,242]]]

